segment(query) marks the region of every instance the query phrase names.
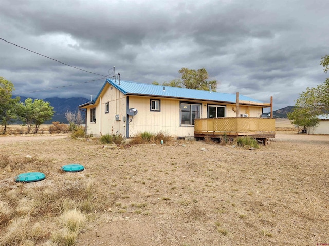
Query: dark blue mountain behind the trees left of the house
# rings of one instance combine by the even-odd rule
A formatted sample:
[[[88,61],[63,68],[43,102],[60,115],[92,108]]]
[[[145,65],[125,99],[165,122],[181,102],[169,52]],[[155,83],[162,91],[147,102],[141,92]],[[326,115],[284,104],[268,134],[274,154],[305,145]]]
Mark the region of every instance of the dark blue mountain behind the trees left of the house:
[[[21,97],[21,101],[25,101],[25,99],[27,99],[27,97],[24,96],[20,96]],[[33,100],[35,98],[32,98]],[[79,110],[79,105],[80,104],[84,104],[87,101],[89,101],[89,99],[83,98],[83,97],[71,97],[71,98],[58,98],[58,97],[49,97],[49,98],[45,98],[43,99],[44,101],[48,101],[50,103],[50,105],[52,107],[54,107],[54,111],[55,114],[52,117],[51,120],[46,121],[46,124],[51,124],[51,122],[53,121],[59,121],[61,123],[68,123],[64,113],[67,111],[70,112],[78,112]],[[85,114],[83,112],[81,112],[82,117],[84,119]]]

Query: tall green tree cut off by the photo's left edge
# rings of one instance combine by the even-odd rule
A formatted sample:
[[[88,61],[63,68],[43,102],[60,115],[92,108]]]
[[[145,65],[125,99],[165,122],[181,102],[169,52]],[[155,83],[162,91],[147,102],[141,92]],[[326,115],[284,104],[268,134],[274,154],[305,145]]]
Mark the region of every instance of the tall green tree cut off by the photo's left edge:
[[[3,134],[6,133],[7,125],[16,119],[16,105],[20,98],[12,98],[14,85],[3,77],[0,77],[0,125],[4,126]]]

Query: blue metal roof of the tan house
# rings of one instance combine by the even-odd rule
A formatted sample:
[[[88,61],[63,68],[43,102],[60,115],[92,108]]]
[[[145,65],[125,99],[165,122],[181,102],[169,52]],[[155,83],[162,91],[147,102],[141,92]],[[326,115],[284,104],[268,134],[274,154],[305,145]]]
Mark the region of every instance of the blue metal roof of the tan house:
[[[179,87],[159,86],[153,84],[136,83],[132,81],[114,81],[113,79],[106,79],[105,84],[96,96],[94,102],[98,99],[100,93],[105,85],[109,83],[125,95],[139,95],[139,96],[153,96],[153,97],[168,97],[186,100],[202,100],[215,101],[223,103],[236,103],[236,94],[210,92],[203,90],[193,90]],[[239,95],[239,100],[252,101],[254,103],[262,103],[259,100],[250,97]]]

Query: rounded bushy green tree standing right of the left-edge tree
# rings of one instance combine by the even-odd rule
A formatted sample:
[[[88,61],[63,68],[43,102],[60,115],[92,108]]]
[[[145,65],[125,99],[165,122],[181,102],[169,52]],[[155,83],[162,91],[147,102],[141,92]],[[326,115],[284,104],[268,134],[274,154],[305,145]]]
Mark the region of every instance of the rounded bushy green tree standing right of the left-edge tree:
[[[45,121],[50,120],[54,115],[53,107],[48,101],[42,99],[27,98],[24,103],[20,103],[17,114],[23,124],[27,125],[27,132],[30,133],[31,126],[35,126],[34,133],[38,133],[38,129]]]

